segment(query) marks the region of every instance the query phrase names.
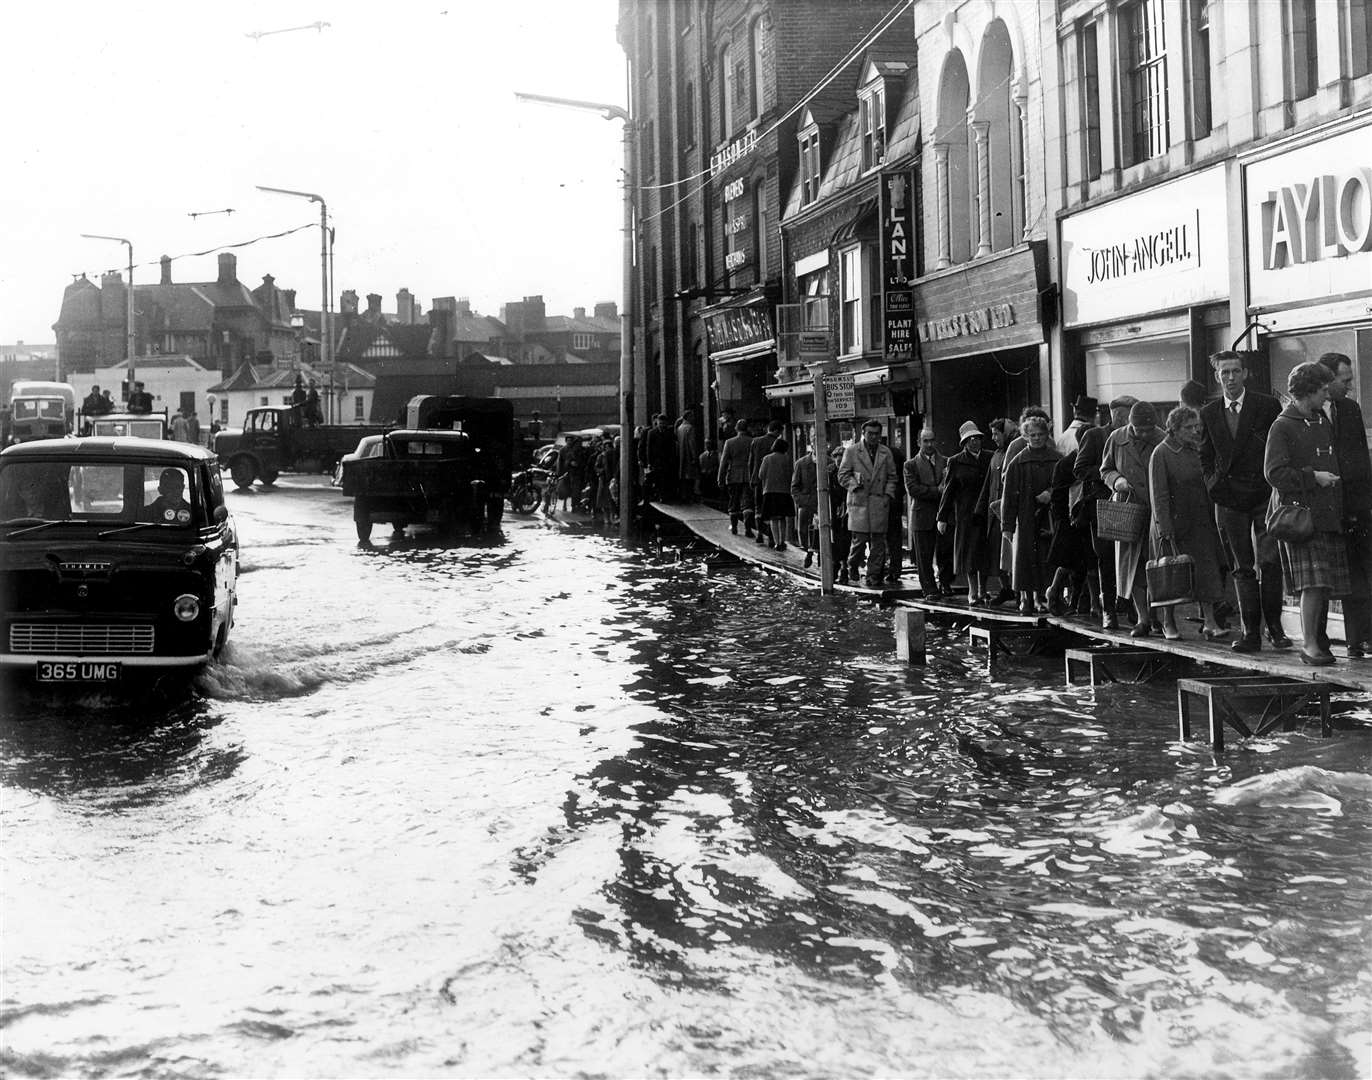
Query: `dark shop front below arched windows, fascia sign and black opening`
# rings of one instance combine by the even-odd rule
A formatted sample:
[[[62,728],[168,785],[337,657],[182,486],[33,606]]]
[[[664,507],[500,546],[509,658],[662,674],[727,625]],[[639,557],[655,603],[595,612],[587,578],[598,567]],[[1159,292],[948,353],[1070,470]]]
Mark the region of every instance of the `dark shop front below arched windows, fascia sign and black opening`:
[[[945,450],[967,420],[985,431],[1039,401],[1045,284],[1041,240],[915,283],[915,340],[927,372],[915,408]]]

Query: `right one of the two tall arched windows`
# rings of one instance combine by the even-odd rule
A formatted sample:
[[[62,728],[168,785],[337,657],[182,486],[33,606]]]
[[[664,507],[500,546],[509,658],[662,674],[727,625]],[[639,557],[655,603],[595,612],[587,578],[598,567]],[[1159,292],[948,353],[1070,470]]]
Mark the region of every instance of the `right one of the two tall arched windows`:
[[[1014,93],[1014,54],[1010,48],[1010,32],[1004,22],[993,19],[981,40],[981,62],[977,70],[977,115],[986,125],[985,144],[974,145],[974,154],[985,154],[985,169],[974,158],[973,189],[978,195],[978,220],[991,229],[989,236],[977,232],[977,240],[991,251],[1013,247],[1024,232],[1024,209],[1019,204],[1018,162],[1015,134],[1018,121]],[[985,183],[985,191],[981,189]],[[986,200],[981,210],[980,200]]]

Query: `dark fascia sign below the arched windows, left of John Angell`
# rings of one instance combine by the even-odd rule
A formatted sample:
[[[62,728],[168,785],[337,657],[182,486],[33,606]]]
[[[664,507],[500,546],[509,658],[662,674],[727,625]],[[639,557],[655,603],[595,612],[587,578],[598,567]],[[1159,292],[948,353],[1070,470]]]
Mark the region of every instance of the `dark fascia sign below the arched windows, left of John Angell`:
[[[915,288],[919,354],[947,360],[1040,344],[1039,295],[1045,283],[1043,240],[921,279]]]

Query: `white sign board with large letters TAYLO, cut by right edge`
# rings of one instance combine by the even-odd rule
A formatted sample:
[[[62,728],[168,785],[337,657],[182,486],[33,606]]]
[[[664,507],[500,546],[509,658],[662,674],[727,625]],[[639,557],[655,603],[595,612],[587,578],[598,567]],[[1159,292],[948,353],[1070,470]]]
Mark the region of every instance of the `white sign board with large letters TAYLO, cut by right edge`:
[[[1372,292],[1372,124],[1243,169],[1249,303]]]

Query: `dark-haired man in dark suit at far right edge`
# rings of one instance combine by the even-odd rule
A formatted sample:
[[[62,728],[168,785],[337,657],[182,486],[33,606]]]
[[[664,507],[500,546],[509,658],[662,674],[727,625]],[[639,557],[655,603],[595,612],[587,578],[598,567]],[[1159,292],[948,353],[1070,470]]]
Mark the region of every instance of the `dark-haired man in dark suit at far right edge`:
[[[1334,424],[1334,460],[1339,462],[1343,491],[1343,539],[1349,548],[1353,591],[1343,597],[1343,639],[1349,656],[1361,660],[1372,653],[1372,457],[1362,409],[1350,397],[1353,361],[1343,353],[1325,353],[1329,399],[1324,413]]]

